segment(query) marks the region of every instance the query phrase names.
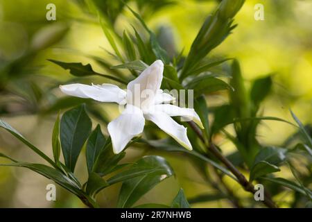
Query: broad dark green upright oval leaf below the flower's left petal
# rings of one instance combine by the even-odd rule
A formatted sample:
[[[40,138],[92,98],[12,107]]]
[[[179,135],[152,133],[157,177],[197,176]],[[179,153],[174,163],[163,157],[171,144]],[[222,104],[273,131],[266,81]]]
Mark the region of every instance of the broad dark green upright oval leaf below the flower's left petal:
[[[60,142],[65,165],[71,172],[75,169],[83,144],[91,132],[92,122],[80,105],[65,112],[60,122]]]

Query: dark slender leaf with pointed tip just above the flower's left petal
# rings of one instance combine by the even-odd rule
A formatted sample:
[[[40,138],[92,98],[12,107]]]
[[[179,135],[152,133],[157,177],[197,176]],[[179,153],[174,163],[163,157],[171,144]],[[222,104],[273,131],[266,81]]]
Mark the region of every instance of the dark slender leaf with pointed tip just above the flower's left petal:
[[[65,70],[69,69],[69,73],[73,76],[78,76],[78,77],[102,76],[102,77],[109,78],[116,82],[127,85],[127,83],[125,83],[125,81],[121,80],[120,78],[116,78],[114,76],[105,75],[105,74],[99,74],[98,72],[94,71],[91,65],[89,64],[83,65],[81,62],[60,62],[58,60],[49,60],[49,61],[55,63],[56,65],[59,65]]]

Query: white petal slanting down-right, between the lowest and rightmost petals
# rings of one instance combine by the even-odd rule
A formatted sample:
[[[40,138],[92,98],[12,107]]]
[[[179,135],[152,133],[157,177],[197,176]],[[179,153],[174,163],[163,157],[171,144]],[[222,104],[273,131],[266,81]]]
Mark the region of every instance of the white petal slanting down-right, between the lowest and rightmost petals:
[[[144,114],[144,117],[153,121],[159,128],[164,130],[164,132],[173,137],[173,139],[188,150],[191,151],[193,149],[187,137],[187,128],[175,122],[168,114],[157,112],[154,114]]]

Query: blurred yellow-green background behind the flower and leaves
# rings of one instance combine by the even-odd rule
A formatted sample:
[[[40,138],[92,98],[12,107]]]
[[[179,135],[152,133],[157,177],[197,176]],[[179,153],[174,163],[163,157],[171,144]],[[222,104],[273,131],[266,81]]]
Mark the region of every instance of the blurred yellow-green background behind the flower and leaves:
[[[96,14],[85,1],[34,1],[0,0],[0,118],[19,130],[37,147],[51,156],[51,132],[55,120],[53,103],[62,96],[58,85],[72,79],[67,71],[53,65],[47,59],[66,62],[90,63],[95,70],[105,73],[94,56],[111,61],[105,51],[112,51]],[[114,2],[114,1],[112,1]],[[187,55],[202,22],[218,1],[157,1],[141,8],[141,15],[148,26],[157,33],[162,46],[170,52],[181,51]],[[162,1],[163,2],[163,1]],[[46,5],[56,6],[56,21],[46,20]],[[263,21],[254,19],[254,5],[263,3]],[[136,4],[130,1],[136,9]],[[238,58],[246,85],[260,76],[274,74],[273,90],[262,105],[266,116],[291,120],[289,108],[303,123],[312,123],[312,1],[248,0],[235,17],[239,24],[232,35],[212,54]],[[128,10],[117,17],[117,31],[130,30],[135,19]],[[81,82],[81,80],[79,80]],[[85,78],[85,83],[110,83],[103,78]],[[209,96],[208,105],[227,102],[226,94]],[[101,105],[105,117],[116,117],[116,106]],[[94,124],[95,126],[95,124]],[[231,126],[228,130],[231,132]],[[263,144],[281,144],[295,129],[285,123],[266,121],[258,132]],[[228,142],[222,143],[225,153],[234,149]],[[0,152],[17,160],[40,162],[24,145],[11,135],[0,131]],[[155,151],[130,148],[125,161]],[[211,187],[202,182],[186,159],[179,155],[164,154],[175,170],[170,178],[148,192],[139,203],[170,203],[177,189],[183,187],[187,197],[209,193]],[[80,155],[76,169],[78,178],[86,180],[87,171]],[[1,160],[2,161],[2,160]],[[284,178],[288,171],[281,171]],[[290,175],[289,175],[290,176]],[[46,200],[46,185],[50,180],[33,171],[19,168],[0,168],[0,207],[83,207],[80,200],[58,187],[57,200]],[[114,207],[120,185],[101,192],[98,201],[103,207]],[[243,189],[231,185],[241,196]],[[165,195],[159,195],[165,194]],[[291,195],[281,195],[276,201],[281,207],[289,207]],[[193,205],[193,207],[230,207],[227,200]]]

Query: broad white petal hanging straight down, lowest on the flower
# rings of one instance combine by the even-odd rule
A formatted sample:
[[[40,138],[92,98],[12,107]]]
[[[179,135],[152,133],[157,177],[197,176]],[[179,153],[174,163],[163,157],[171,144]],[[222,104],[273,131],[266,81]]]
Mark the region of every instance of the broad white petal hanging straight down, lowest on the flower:
[[[112,138],[114,153],[123,151],[133,137],[142,133],[144,123],[142,111],[130,104],[119,117],[108,123],[107,130]]]

